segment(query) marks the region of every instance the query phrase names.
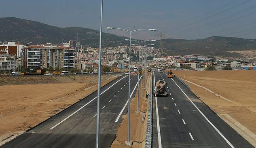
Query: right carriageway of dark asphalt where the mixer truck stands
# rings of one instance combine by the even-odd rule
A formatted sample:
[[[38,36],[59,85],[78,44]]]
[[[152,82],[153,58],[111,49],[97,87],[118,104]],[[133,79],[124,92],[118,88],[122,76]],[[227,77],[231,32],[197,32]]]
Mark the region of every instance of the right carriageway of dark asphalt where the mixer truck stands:
[[[153,97],[153,148],[254,148],[178,79],[163,79],[167,97]]]

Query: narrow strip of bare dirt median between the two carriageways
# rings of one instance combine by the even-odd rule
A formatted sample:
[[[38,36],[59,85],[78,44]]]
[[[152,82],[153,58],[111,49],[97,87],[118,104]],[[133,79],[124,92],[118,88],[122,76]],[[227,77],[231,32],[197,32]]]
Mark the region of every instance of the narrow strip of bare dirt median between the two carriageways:
[[[149,73],[150,74],[150,73]],[[149,90],[150,84],[150,76],[147,78],[146,88]],[[141,91],[140,91],[141,94]],[[135,93],[135,97],[131,100],[131,115],[130,115],[130,140],[132,142],[132,146],[128,146],[125,144],[127,141],[127,114],[123,116],[123,122],[119,127],[116,139],[112,143],[110,148],[144,148],[145,146],[145,138],[146,138],[146,121],[147,121],[147,110],[148,110],[148,100],[146,100],[146,91],[143,89],[142,91],[143,97],[139,97],[139,111],[140,114],[135,113],[137,110],[137,92]],[[141,95],[140,95],[141,96]],[[146,114],[145,122],[142,123],[143,113]]]

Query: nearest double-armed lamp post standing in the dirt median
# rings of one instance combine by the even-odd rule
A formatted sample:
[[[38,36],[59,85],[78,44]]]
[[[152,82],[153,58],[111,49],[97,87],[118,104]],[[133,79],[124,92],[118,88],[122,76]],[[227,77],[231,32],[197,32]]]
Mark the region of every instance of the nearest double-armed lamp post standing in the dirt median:
[[[129,32],[130,33],[130,46],[129,46],[129,87],[128,87],[128,130],[127,130],[127,141],[125,142],[125,144],[131,146],[131,142],[130,142],[130,78],[131,78],[131,34],[133,34],[134,32],[138,32],[141,30],[148,30],[148,31],[156,31],[155,29],[138,29],[138,30],[126,30],[126,29],[122,29],[122,28],[114,28],[114,27],[106,27],[107,30],[123,30],[125,32]]]

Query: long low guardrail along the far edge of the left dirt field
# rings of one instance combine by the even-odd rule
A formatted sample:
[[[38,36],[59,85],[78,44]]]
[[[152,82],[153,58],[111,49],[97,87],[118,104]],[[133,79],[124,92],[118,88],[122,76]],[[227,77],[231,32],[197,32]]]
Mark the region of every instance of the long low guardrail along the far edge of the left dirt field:
[[[110,73],[101,73],[102,75],[111,75],[111,74],[119,74],[116,72],[110,72]],[[42,77],[42,76],[59,76],[59,77],[63,77],[63,76],[92,76],[92,75],[97,75],[97,74],[68,74],[68,75],[60,75],[60,74],[53,74],[53,75],[15,75],[15,76],[1,76],[0,78],[5,78],[5,77],[27,77],[27,76],[35,76],[35,77]]]

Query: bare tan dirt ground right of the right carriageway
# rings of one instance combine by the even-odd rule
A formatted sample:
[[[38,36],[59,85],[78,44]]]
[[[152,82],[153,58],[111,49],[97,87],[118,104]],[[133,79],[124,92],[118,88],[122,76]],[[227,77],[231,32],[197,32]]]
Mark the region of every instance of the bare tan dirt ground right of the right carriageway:
[[[229,122],[226,117],[232,117],[256,134],[256,71],[175,71],[174,73],[190,81],[184,82],[224,121]],[[238,123],[233,124],[238,125]]]

